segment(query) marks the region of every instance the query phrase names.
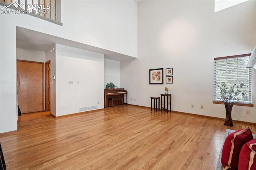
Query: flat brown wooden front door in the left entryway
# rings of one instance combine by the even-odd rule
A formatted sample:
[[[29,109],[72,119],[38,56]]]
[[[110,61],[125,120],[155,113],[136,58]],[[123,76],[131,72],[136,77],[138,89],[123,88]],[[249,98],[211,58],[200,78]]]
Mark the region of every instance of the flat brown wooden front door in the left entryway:
[[[17,60],[17,94],[21,113],[44,111],[44,63]]]

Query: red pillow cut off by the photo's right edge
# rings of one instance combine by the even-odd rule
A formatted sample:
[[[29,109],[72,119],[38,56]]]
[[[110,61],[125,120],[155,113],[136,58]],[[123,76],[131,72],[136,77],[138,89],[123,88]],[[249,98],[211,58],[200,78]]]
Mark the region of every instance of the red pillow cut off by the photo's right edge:
[[[256,139],[250,140],[242,146],[238,170],[256,170]]]

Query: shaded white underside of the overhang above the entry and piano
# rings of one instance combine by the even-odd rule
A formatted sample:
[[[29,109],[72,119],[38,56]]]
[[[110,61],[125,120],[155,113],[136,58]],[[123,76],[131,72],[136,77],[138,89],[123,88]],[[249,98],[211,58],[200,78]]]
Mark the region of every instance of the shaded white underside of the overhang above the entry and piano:
[[[121,53],[116,53],[114,51],[109,51],[106,49],[94,47],[84,43],[74,42],[64,38],[52,36],[49,34],[44,34],[42,32],[37,32],[29,30],[22,27],[16,27],[16,47],[24,49],[33,49],[37,51],[47,51],[52,44],[62,44],[70,47],[80,48],[88,51],[93,51],[96,53],[104,54],[104,58],[112,59],[116,61],[123,61],[127,59],[135,59],[129,55],[124,55]]]

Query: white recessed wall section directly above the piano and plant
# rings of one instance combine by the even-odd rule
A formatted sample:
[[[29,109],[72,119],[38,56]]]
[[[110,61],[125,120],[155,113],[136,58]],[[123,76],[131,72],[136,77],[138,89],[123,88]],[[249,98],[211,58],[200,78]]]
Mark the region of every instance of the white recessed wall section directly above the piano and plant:
[[[104,59],[104,88],[110,82],[122,88],[120,87],[120,61]]]

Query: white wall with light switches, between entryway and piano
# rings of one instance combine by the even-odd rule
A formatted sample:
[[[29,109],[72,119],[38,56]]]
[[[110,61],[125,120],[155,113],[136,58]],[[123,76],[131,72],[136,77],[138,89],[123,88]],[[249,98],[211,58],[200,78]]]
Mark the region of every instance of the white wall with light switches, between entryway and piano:
[[[103,54],[56,44],[57,117],[79,113],[81,107],[104,108],[103,86]]]

